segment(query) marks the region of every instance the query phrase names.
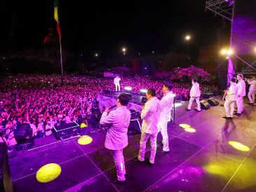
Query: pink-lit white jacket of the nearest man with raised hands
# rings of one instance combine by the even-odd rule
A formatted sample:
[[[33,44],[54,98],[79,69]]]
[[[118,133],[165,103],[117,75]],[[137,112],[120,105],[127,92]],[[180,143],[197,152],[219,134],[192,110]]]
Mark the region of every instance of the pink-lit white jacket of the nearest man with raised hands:
[[[105,139],[107,149],[119,150],[128,145],[128,126],[130,125],[130,111],[126,106],[117,107],[116,110],[103,112],[100,124],[109,125]]]

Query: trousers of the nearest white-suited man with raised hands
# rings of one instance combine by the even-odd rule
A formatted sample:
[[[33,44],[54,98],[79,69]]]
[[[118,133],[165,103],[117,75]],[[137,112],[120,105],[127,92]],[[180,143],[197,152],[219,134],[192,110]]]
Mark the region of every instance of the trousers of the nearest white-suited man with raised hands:
[[[125,181],[126,166],[124,165],[123,149],[110,150],[114,158],[114,164],[116,165],[116,174],[119,181]]]

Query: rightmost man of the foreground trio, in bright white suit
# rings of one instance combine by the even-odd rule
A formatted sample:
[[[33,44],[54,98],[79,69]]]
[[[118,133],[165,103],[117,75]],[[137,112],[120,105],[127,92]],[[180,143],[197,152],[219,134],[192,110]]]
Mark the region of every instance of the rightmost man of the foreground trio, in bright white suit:
[[[169,149],[169,139],[168,139],[168,133],[167,133],[167,123],[170,121],[170,111],[173,107],[173,92],[170,90],[172,89],[172,85],[163,84],[163,97],[160,100],[160,107],[161,107],[161,113],[160,113],[160,131],[163,137],[163,151],[162,152],[168,152]]]

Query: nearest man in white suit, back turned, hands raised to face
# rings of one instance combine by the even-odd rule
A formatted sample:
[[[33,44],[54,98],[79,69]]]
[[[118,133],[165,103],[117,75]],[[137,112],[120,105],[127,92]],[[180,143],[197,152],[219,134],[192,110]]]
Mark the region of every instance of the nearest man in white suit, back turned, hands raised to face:
[[[110,111],[107,107],[100,118],[100,124],[109,125],[105,139],[105,147],[110,149],[116,165],[116,183],[126,180],[126,166],[123,160],[123,148],[128,145],[128,126],[130,124],[130,111],[126,108],[129,102],[128,95],[119,95],[116,101],[116,109]]]

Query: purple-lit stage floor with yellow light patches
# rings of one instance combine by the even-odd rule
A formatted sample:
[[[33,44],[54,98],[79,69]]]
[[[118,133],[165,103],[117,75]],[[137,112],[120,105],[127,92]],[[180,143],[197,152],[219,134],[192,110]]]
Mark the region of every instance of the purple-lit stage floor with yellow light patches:
[[[256,107],[246,104],[242,116],[226,121],[220,105],[187,112],[187,102],[181,104],[176,108],[175,124],[168,123],[171,151],[156,153],[153,167],[133,160],[139,151],[140,135],[129,135],[129,145],[123,150],[126,184],[113,183],[116,169],[111,153],[104,147],[102,130],[90,134],[93,142],[88,145],[46,137],[48,141],[39,139],[41,145],[53,144],[9,153],[15,191],[256,191]],[[178,126],[180,123],[191,125],[196,132],[185,131]],[[230,141],[240,142],[250,151],[234,149]],[[161,149],[158,145],[157,151]],[[40,183],[36,172],[48,163],[57,163],[62,172],[57,179]]]

